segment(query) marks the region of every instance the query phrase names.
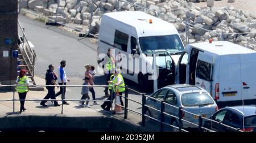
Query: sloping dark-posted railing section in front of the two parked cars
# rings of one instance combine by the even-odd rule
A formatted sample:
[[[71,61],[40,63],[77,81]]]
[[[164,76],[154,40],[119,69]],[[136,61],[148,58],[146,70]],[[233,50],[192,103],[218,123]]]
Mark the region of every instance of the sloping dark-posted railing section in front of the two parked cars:
[[[134,112],[135,114],[138,114],[138,115],[142,116],[142,119],[141,119],[142,120],[142,122],[141,122],[142,126],[146,125],[146,118],[149,118],[151,120],[154,120],[155,122],[160,123],[160,131],[161,132],[163,131],[164,125],[166,125],[167,127],[171,127],[171,128],[173,128],[173,129],[175,129],[179,132],[188,132],[187,130],[184,129],[183,122],[188,123],[189,125],[196,127],[198,129],[198,131],[200,131],[200,132],[201,131],[216,132],[212,128],[204,127],[204,120],[206,120],[210,123],[218,124],[218,130],[217,131],[221,131],[221,127],[226,127],[228,129],[230,129],[231,131],[242,132],[242,130],[240,128],[234,128],[234,127],[231,127],[229,125],[223,124],[222,122],[217,122],[216,120],[205,118],[202,115],[194,114],[192,112],[184,110],[182,107],[177,107],[177,106],[171,105],[170,103],[167,103],[163,100],[159,100],[159,99],[156,99],[154,97],[147,96],[145,93],[137,92],[134,89],[128,88],[128,86],[125,86],[124,88],[126,89],[125,90],[125,96],[124,97],[121,96],[121,97],[125,98],[125,106],[121,106],[117,103],[115,103],[115,105],[118,105],[118,106],[121,106],[121,107],[124,108],[124,119],[128,118],[128,111]],[[129,91],[132,91],[132,92],[135,92],[135,93],[141,95],[142,96],[142,103],[138,102],[138,101],[135,101],[134,99],[129,98]],[[150,105],[147,105],[146,98],[150,98],[150,99],[153,99],[156,102],[159,102],[160,109],[155,109],[154,107],[151,107]],[[142,106],[142,112],[138,112],[138,111],[135,111],[133,109],[130,109],[128,107],[128,102],[129,101],[135,102],[135,103],[138,103],[139,105],[141,105]],[[168,113],[168,111],[166,111],[166,107],[171,107],[172,109],[178,110],[179,114],[178,115],[172,115],[172,114]],[[152,116],[148,116],[146,114],[146,111],[148,109],[152,109],[152,110],[155,110],[157,112],[160,112],[160,120],[156,119],[156,118],[153,118]],[[197,117],[198,118],[198,124],[184,119],[184,117],[183,117],[184,114],[185,115],[192,115],[192,116]],[[178,121],[178,127],[176,127],[175,125],[172,125],[170,123],[167,123],[165,121],[166,116],[168,118],[172,118],[172,119],[177,120]]]

